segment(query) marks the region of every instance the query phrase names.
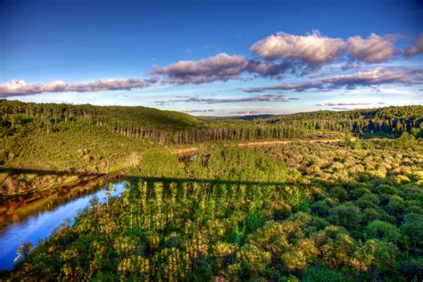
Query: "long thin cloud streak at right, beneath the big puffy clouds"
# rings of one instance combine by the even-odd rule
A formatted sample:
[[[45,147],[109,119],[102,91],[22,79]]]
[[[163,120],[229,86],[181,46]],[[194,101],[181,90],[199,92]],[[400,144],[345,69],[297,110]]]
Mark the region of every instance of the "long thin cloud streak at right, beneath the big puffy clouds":
[[[354,74],[336,75],[328,79],[305,81],[300,83],[285,83],[270,87],[245,88],[248,93],[270,90],[294,90],[301,92],[308,89],[353,89],[355,87],[371,87],[383,84],[415,85],[423,84],[423,69],[395,71],[392,68],[374,68],[369,71],[359,71]]]

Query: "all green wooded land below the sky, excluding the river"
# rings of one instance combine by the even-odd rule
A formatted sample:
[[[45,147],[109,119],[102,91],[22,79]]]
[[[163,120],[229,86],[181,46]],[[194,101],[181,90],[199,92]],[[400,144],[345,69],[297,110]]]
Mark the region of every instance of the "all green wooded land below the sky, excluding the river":
[[[423,106],[218,119],[1,100],[0,112],[0,201],[113,171],[128,187],[21,245],[2,280],[423,279]]]

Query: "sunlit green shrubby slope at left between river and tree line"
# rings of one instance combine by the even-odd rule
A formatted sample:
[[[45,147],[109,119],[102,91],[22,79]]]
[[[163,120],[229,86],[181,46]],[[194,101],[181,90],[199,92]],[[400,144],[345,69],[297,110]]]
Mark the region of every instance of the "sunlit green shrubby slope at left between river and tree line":
[[[137,164],[139,154],[151,146],[143,140],[93,128],[84,120],[69,122],[49,133],[26,126],[22,132],[0,137],[4,168],[17,168],[16,172],[0,174],[0,195],[23,194],[51,183],[69,185],[69,178],[78,181],[87,174],[126,169]],[[37,176],[21,169],[34,170]]]

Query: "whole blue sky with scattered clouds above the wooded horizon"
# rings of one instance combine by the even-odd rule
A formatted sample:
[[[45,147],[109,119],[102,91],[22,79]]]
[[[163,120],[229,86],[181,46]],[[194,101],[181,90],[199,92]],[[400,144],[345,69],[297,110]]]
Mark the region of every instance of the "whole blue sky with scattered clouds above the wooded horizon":
[[[423,104],[423,2],[0,0],[0,99],[193,115]]]

